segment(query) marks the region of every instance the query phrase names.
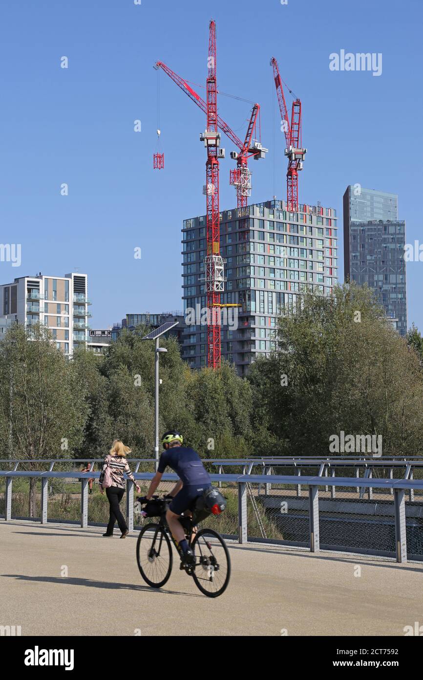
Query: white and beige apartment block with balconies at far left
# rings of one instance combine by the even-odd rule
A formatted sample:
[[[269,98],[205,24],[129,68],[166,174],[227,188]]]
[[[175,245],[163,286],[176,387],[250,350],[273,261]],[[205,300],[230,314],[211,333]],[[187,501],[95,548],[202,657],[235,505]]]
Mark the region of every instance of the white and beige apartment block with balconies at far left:
[[[87,345],[90,305],[87,275],[22,276],[0,286],[0,316],[28,327],[37,322],[47,326],[53,341],[66,356],[79,345]]]

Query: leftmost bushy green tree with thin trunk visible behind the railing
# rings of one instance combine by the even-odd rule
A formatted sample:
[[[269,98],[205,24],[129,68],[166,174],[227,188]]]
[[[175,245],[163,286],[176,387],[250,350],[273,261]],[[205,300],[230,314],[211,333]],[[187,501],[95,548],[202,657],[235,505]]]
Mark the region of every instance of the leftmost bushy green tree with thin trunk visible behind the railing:
[[[10,457],[70,458],[83,437],[85,397],[72,362],[56,349],[47,328],[16,324],[7,330],[0,343],[0,432]],[[31,477],[30,517],[34,498]]]

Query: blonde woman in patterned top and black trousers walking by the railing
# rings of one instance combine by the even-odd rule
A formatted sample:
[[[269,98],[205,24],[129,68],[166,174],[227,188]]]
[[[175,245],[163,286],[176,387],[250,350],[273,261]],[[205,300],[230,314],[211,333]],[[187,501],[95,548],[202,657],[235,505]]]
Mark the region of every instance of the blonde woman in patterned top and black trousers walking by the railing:
[[[128,526],[124,515],[119,508],[119,503],[125,493],[125,480],[124,473],[132,479],[134,485],[136,486],[136,491],[141,493],[141,488],[138,486],[134,479],[134,475],[130,471],[130,466],[128,465],[128,460],[126,460],[126,454],[130,454],[131,449],[125,446],[122,441],[115,439],[111,445],[109,455],[105,457],[105,462],[103,464],[103,469],[100,473],[100,479],[98,480],[98,485],[100,487],[100,493],[103,494],[103,481],[105,481],[105,472],[109,469],[107,477],[109,478],[110,486],[106,486],[106,496],[109,500],[110,505],[110,518],[109,524],[107,524],[106,533],[103,536],[113,536],[113,528],[117,520],[119,524],[119,529],[122,532],[121,539],[124,539],[129,533]]]

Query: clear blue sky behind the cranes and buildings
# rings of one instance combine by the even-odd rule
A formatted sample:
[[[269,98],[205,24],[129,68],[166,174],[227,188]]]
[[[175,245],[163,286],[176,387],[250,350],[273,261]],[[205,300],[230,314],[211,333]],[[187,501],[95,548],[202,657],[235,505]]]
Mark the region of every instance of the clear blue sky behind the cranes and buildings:
[[[160,72],[163,171],[157,145],[157,73],[164,61],[206,79],[208,21],[217,22],[219,114],[243,137],[261,105],[251,201],[286,197],[270,58],[303,107],[308,148],[301,202],[335,207],[343,279],[342,195],[348,184],[399,195],[407,242],[422,237],[422,3],[420,0],[4,0],[0,10],[0,224],[22,244],[16,276],[89,275],[92,326],[126,312],[181,309],[181,224],[204,214],[204,114]],[[382,75],[329,70],[329,54],[382,52]],[[69,68],[60,68],[67,56]],[[196,87],[204,96],[204,89]],[[291,107],[287,93],[287,103]],[[141,133],[134,120],[141,120]],[[232,144],[225,139],[221,209],[234,207]],[[69,195],[60,195],[60,185]],[[141,248],[141,260],[134,259]],[[408,318],[423,329],[423,262],[407,264]]]

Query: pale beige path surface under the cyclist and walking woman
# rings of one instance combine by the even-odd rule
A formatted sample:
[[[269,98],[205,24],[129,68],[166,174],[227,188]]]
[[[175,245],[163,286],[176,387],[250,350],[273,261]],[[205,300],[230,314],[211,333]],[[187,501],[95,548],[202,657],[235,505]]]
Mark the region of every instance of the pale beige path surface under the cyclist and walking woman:
[[[177,560],[164,588],[151,590],[136,566],[137,534],[103,532],[1,522],[0,625],[22,635],[374,636],[423,621],[421,564],[229,543],[232,579],[210,600]]]

